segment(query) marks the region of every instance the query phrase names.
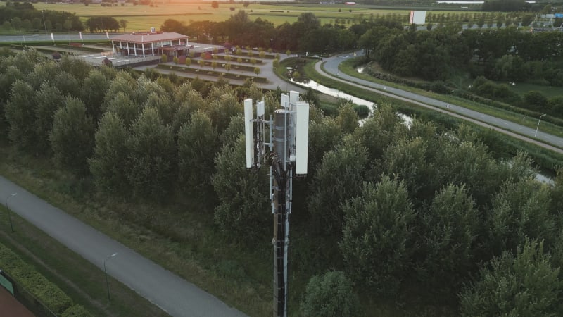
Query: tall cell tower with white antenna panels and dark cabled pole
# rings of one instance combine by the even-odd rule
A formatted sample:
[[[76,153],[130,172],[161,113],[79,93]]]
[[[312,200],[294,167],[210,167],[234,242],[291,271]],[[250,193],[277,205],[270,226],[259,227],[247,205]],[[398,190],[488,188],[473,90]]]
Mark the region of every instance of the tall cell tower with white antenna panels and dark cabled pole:
[[[261,166],[270,159],[270,198],[274,215],[274,316],[287,317],[287,249],[293,175],[307,174],[309,104],[299,101],[298,92],[281,94],[281,108],[274,118],[264,118],[264,101],[244,101],[246,168]],[[268,125],[268,129],[265,126]],[[264,140],[265,133],[269,139]],[[273,134],[273,138],[272,138]],[[269,151],[266,151],[268,147]]]

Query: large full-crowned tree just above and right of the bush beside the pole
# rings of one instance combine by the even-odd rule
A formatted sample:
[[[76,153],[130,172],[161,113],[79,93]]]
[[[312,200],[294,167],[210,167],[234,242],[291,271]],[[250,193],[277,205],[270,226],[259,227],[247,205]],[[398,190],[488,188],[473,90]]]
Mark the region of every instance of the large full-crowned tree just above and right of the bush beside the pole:
[[[379,294],[396,294],[409,259],[414,211],[404,182],[384,176],[364,183],[359,197],[344,209],[339,247],[346,271]]]

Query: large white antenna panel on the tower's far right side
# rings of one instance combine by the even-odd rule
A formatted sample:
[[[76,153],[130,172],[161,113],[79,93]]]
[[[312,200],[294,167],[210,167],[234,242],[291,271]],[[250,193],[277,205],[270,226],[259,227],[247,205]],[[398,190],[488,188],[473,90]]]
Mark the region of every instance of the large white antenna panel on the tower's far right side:
[[[308,144],[309,144],[309,104],[299,102],[296,105],[296,149],[295,173],[307,174]]]

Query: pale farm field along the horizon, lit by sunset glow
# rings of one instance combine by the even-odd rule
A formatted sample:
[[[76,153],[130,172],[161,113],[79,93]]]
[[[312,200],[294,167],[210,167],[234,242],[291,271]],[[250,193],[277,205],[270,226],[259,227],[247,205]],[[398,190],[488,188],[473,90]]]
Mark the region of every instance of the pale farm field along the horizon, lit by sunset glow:
[[[219,8],[211,8],[210,2],[191,2],[185,4],[156,4],[155,6],[134,6],[126,4],[125,6],[103,7],[100,4],[33,4],[38,10],[67,11],[78,15],[82,21],[87,20],[91,16],[112,16],[117,20],[127,20],[127,28],[125,31],[147,30],[149,27],[157,29],[166,19],[175,19],[189,24],[191,21],[209,20],[211,22],[221,22],[227,20],[238,10],[245,10],[252,20],[262,18],[268,20],[274,25],[281,25],[285,22],[293,23],[297,20],[301,13],[311,12],[320,19],[321,24],[331,23],[336,19],[352,20],[358,15],[362,18],[374,18],[385,16],[388,14],[403,15],[405,23],[407,22],[410,8],[377,8],[374,6],[346,6],[343,4],[324,5],[324,6],[298,6],[298,5],[270,5],[270,4],[250,4],[244,8],[243,4],[225,4],[220,3]],[[235,8],[231,11],[230,8]],[[339,12],[341,9],[341,12]],[[351,10],[351,12],[350,12]],[[272,12],[273,11],[273,12]],[[440,11],[448,13],[448,11]],[[452,13],[455,11],[451,11]],[[472,11],[464,11],[472,12]]]

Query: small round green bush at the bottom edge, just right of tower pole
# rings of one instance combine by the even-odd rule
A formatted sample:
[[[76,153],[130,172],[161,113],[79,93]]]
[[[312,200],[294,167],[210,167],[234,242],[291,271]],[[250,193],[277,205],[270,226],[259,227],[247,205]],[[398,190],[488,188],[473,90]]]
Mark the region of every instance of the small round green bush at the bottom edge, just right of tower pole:
[[[360,299],[354,284],[341,271],[310,278],[301,302],[303,316],[353,317],[360,315]]]

